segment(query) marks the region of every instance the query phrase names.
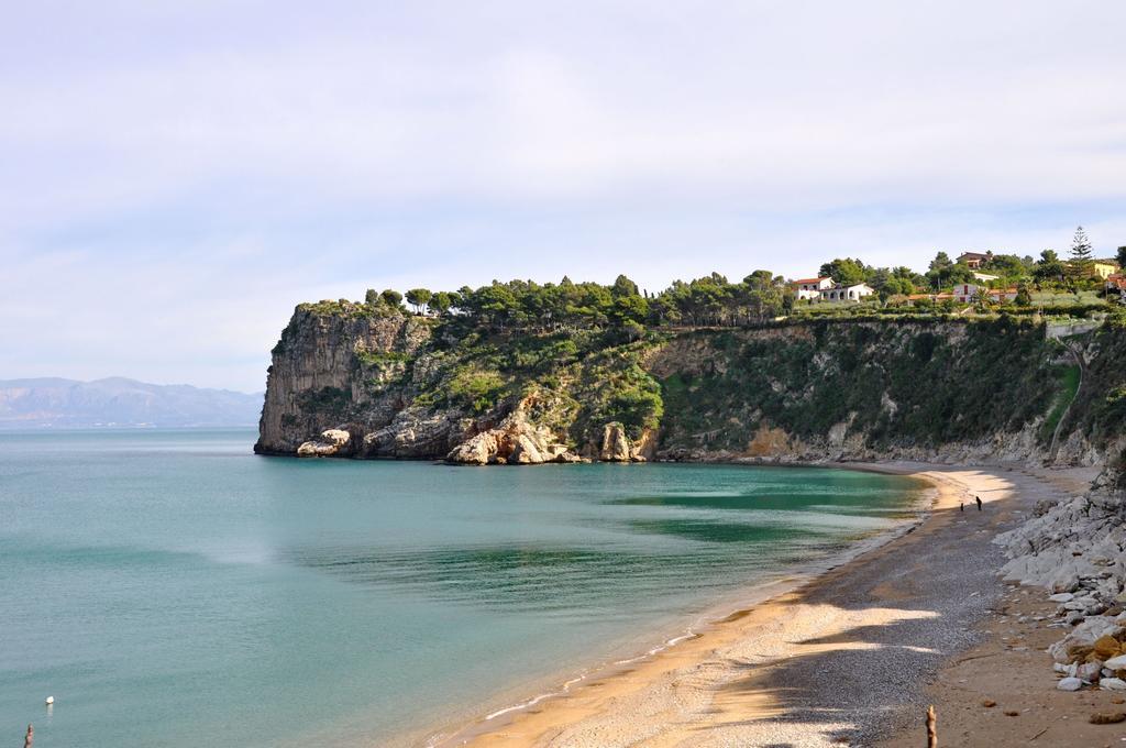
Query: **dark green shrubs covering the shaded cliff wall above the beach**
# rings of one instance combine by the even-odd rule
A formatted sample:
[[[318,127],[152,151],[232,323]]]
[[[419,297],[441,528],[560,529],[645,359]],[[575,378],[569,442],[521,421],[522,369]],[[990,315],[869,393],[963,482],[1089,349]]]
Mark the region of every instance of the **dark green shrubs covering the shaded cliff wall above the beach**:
[[[1007,319],[821,320],[694,338],[667,353],[701,362],[664,380],[664,438],[683,447],[742,451],[762,426],[812,439],[840,424],[874,447],[973,442],[1019,430],[1055,390],[1055,367],[1043,364],[1053,344]]]

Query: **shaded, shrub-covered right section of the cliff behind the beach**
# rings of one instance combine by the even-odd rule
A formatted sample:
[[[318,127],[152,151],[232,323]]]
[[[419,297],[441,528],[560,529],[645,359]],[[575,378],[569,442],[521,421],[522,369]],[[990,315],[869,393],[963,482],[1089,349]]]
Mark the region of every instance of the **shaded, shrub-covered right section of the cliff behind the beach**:
[[[1110,326],[1061,342],[1003,319],[683,336],[651,360],[658,457],[1106,464],[1121,452],[1124,363]]]

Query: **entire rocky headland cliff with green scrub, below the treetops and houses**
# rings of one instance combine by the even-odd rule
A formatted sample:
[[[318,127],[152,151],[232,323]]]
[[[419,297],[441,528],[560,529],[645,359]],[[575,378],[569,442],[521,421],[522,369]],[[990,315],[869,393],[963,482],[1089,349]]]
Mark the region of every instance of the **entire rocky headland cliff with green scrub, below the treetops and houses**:
[[[1107,324],[1061,341],[1007,317],[626,336],[302,305],[274,350],[256,449],[471,464],[1097,464],[1123,446],[1121,337]]]

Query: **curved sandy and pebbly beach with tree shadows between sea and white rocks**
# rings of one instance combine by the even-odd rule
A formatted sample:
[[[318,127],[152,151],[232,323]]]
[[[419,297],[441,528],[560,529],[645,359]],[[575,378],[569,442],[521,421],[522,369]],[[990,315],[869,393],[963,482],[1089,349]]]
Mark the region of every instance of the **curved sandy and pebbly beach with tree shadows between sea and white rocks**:
[[[1051,698],[1052,720],[1074,711],[1073,724],[1085,721],[1088,704],[1053,695],[1046,654],[1015,648],[1011,635],[990,627],[999,615],[1011,623],[998,613],[1006,606],[1046,605],[1037,591],[1000,581],[1003,558],[991,541],[1037,500],[1081,492],[1089,471],[847,466],[930,481],[938,489],[933,506],[911,532],[797,589],[430,745],[890,747],[919,742],[926,704],[936,703],[940,734],[958,736],[948,745],[1022,746],[1042,728],[1004,714],[1012,710],[980,705],[1020,662],[1026,698]],[[983,657],[973,657],[977,650]]]

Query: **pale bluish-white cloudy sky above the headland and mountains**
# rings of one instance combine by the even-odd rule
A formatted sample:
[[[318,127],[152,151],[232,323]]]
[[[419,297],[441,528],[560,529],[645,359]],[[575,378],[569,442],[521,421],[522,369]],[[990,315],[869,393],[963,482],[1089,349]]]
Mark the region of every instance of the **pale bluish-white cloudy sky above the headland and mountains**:
[[[1126,3],[9,1],[0,379],[265,386],[295,304],[1126,244]]]

